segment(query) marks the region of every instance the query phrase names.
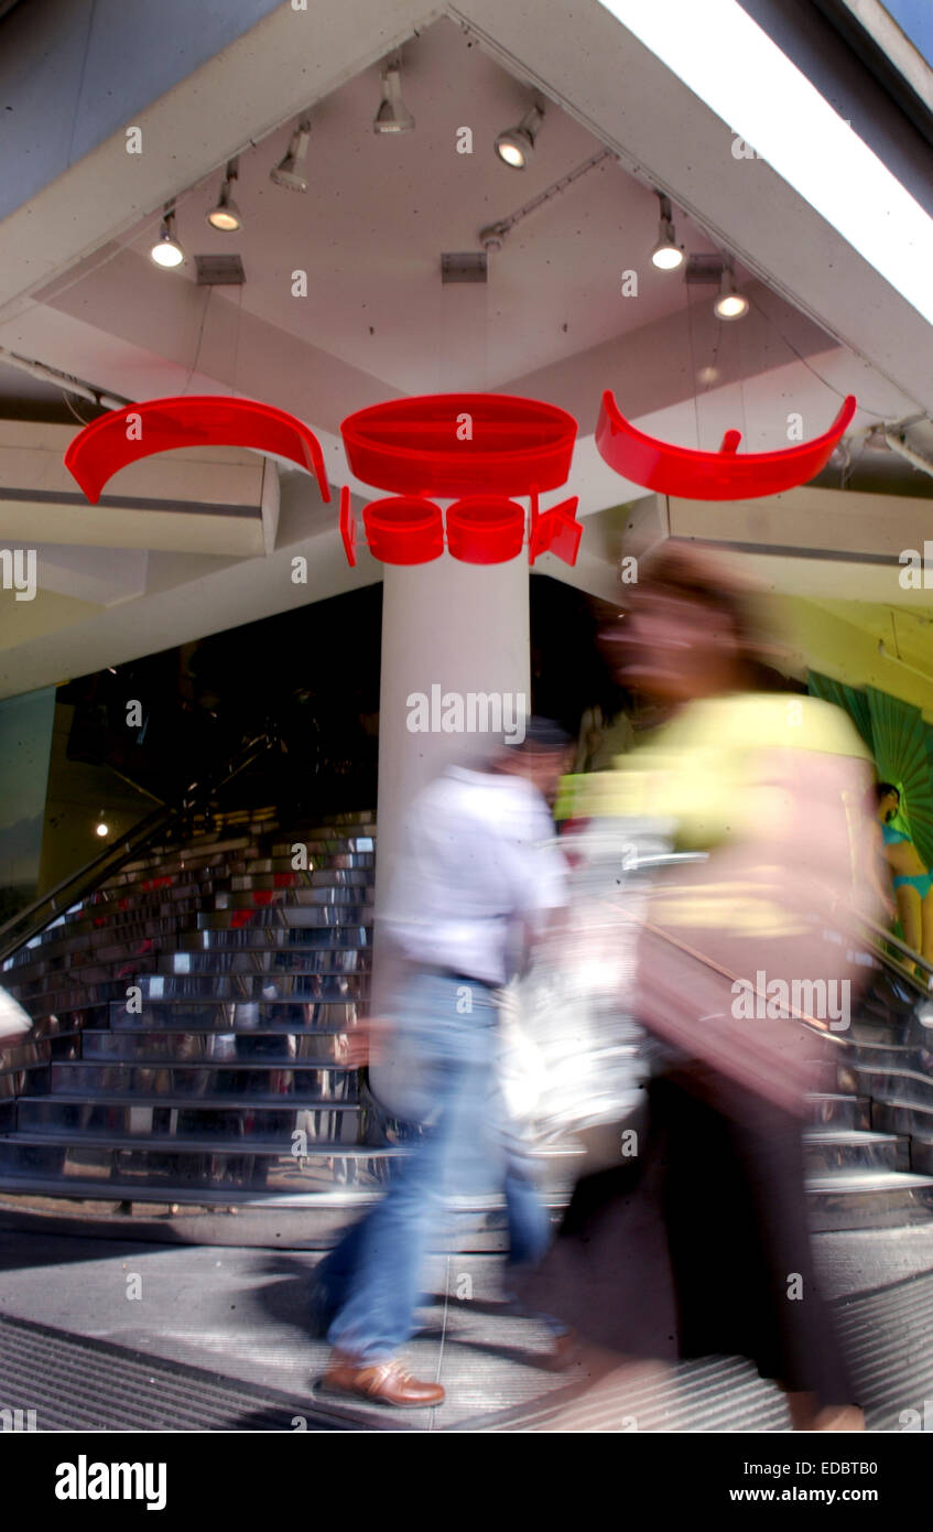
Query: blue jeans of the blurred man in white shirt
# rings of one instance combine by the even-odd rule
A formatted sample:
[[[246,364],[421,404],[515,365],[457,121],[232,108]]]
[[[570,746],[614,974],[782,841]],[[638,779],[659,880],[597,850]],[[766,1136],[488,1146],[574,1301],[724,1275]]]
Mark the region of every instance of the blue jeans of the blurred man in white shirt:
[[[461,1014],[469,991],[470,1011]],[[476,979],[415,970],[403,996],[404,1026],[434,1105],[421,1140],[400,1163],[381,1203],[316,1272],[328,1340],[362,1363],[392,1356],[415,1330],[432,1235],[446,1200],[495,1175],[506,1192],[510,1261],[538,1262],[550,1221],[522,1158],[499,1135],[496,1005]],[[461,1010],[458,1010],[458,1005]]]

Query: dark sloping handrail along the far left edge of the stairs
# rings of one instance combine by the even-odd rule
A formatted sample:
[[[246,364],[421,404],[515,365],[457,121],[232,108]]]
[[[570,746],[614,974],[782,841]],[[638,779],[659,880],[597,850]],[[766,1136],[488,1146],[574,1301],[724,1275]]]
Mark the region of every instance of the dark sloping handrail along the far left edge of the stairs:
[[[109,873],[119,872],[126,863],[150,846],[156,835],[165,830],[169,824],[190,813],[205,798],[219,792],[241,771],[245,771],[265,751],[271,749],[279,738],[277,728],[270,725],[262,734],[247,740],[213,775],[204,781],[190,783],[175,803],[161,804],[158,809],[153,809],[144,820],[139,820],[123,841],[107,846],[98,856],[93,856],[77,872],[69,873],[67,878],[63,878],[54,889],[40,895],[25,910],[18,910],[12,919],[0,925],[0,964],[6,962],[20,947],[25,947],[26,942],[31,942],[44,931],[60,915],[70,910],[84,893],[89,893]]]

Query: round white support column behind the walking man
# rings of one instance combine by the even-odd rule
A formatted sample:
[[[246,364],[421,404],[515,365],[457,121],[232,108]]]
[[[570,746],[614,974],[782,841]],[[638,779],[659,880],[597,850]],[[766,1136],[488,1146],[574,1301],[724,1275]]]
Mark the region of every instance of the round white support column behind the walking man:
[[[372,1013],[389,974],[380,959],[378,921],[417,794],[449,761],[484,752],[478,734],[412,732],[412,692],[524,694],[530,706],[527,552],[507,564],[463,564],[443,553],[432,564],[386,565],[383,578],[381,689]],[[372,1071],[392,1102],[391,1060]]]

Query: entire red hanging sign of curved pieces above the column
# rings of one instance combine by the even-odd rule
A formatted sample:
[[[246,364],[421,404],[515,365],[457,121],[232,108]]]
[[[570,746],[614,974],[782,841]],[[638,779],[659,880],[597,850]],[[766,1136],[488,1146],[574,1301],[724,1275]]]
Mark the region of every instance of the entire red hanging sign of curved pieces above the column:
[[[719,452],[696,452],[637,430],[611,391],[596,426],[601,457],[624,478],[689,499],[751,499],[812,480],[829,461],[855,414],[849,395],[829,430],[780,452],[738,455],[728,430]],[[351,472],[388,490],[363,509],[363,533],[385,564],[427,564],[444,552],[467,564],[501,564],[521,553],[527,496],[529,562],[553,553],[576,564],[582,525],[578,496],[541,509],[539,493],[567,483],[576,420],[556,404],[510,394],[429,394],[348,415],[340,426]],[[331,490],[313,430],[257,400],[196,395],[127,404],[95,420],[70,443],[64,463],[97,504],[104,484],[139,458],[176,447],[239,446],[286,458]],[[435,498],[452,499],[447,512]],[[355,564],[357,524],[349,489],[340,490],[340,536]]]

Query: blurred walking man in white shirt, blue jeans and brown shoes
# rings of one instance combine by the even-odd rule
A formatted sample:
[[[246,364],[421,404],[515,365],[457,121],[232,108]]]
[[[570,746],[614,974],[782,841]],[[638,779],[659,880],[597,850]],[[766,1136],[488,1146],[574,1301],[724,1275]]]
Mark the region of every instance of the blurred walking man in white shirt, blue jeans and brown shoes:
[[[493,1106],[496,993],[565,902],[548,798],[570,746],[556,725],[530,719],[521,743],[498,746],[484,768],[447,768],[412,807],[385,930],[404,965],[395,1010],[421,1079],[423,1105],[409,1112],[421,1138],[383,1201],[317,1268],[328,1390],[408,1408],[444,1399],[397,1353],[415,1328],[438,1215],[470,1189],[478,1160],[498,1166],[510,1261],[529,1265],[547,1249],[547,1212]]]

